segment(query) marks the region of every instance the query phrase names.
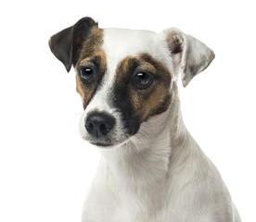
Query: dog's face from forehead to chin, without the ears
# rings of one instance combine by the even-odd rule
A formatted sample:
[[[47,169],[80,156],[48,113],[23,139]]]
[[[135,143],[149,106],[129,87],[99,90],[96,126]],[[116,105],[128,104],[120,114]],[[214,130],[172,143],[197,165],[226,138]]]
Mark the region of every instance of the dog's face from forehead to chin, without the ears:
[[[75,66],[85,110],[81,131],[96,145],[114,145],[170,104],[170,61],[162,62],[169,52],[149,31],[93,28],[89,38],[97,43],[88,53],[92,43],[85,41]]]

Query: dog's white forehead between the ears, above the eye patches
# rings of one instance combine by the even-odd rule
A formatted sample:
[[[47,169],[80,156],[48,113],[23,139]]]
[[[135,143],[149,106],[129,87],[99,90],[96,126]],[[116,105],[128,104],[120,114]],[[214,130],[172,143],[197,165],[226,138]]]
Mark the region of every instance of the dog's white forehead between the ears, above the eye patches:
[[[104,29],[103,49],[107,56],[109,68],[114,68],[127,56],[147,53],[159,59],[165,59],[166,43],[154,31]]]

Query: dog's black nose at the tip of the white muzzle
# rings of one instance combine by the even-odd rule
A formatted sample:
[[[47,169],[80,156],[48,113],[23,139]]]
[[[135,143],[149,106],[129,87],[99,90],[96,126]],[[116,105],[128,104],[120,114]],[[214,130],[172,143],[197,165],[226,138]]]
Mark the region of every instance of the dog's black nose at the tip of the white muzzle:
[[[115,118],[103,112],[92,112],[85,118],[85,129],[96,138],[105,136],[113,129]]]

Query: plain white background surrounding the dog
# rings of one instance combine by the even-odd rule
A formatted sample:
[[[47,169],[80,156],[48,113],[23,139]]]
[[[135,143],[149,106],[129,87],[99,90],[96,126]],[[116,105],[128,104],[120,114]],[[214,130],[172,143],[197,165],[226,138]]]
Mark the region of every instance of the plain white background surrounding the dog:
[[[74,71],[49,37],[84,16],[101,28],[177,27],[210,46],[184,89],[186,126],[223,175],[243,221],[256,221],[256,31],[253,1],[2,1],[0,221],[81,221],[99,153],[80,138]]]

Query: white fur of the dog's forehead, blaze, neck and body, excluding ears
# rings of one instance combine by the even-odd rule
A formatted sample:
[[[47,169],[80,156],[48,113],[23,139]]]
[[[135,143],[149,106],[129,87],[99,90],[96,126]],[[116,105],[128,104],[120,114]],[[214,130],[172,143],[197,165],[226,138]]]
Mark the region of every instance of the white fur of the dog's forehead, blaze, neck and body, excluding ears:
[[[109,91],[115,68],[125,56],[150,53],[174,75],[165,34],[114,29],[104,34],[109,69],[103,87],[84,112],[82,128],[88,111],[117,115],[108,103]],[[221,176],[186,130],[175,81],[172,95],[169,109],[149,118],[127,142],[101,149],[96,178],[83,207],[83,222],[240,221]],[[82,129],[83,137],[84,133]]]

